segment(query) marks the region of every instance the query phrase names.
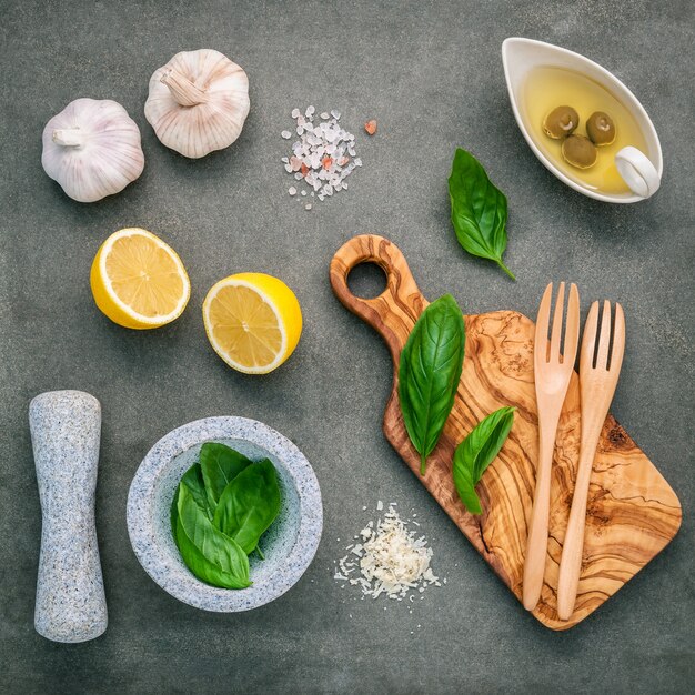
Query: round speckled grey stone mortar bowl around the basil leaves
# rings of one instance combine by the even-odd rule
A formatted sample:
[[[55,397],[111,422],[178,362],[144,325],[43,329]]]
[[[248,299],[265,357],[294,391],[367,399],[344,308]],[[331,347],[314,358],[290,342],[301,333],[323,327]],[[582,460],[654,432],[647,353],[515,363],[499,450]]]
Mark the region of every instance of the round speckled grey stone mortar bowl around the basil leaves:
[[[171,502],[204,442],[222,442],[252,460],[268,457],[278,471],[282,506],[263,536],[265,560],[249,558],[253,585],[209,586],[184,565],[171,533]],[[197,608],[231,613],[284,594],[309,567],[319,546],[323,507],[310,463],[288,439],[245,417],[207,417],[173,430],[144,457],[128,495],[128,532],[140,564],[164,591]]]

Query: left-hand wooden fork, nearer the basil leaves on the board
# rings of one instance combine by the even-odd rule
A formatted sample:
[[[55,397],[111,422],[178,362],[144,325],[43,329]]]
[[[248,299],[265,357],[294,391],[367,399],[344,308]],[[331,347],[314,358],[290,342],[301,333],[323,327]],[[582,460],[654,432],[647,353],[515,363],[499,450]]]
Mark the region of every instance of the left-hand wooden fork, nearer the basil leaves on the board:
[[[547,523],[551,502],[551,465],[555,449],[555,433],[562,404],[565,401],[570,377],[574,371],[577,343],[580,339],[580,293],[573,283],[570,286],[567,320],[565,322],[564,353],[560,354],[563,328],[563,306],[565,283],[560,283],[551,341],[547,341],[547,328],[551,316],[553,283],[551,282],[541,300],[536,319],[536,333],[533,350],[533,363],[538,404],[538,465],[536,467],[536,488],[533,496],[533,511],[526,541],[524,560],[523,603],[527,611],[533,611],[541,597],[545,555],[547,553]]]

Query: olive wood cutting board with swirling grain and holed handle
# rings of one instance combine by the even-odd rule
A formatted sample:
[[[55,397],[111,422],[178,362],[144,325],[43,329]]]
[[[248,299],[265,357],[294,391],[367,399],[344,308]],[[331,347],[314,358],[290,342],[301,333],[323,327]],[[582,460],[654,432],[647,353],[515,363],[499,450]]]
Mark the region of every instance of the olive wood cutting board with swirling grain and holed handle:
[[[361,299],[350,291],[348,275],[360,263],[376,263],[384,270],[386,289],[381,295]],[[382,236],[361,235],[345,243],[333,256],[330,276],[338,299],[373,326],[391,351],[394,369],[393,390],[384,413],[386,439],[521,602],[538,455],[534,323],[515,311],[464,316],[466,344],[461,382],[423,477],[420,456],[401,416],[397,364],[401,350],[429,302],[417,289],[401,251]],[[474,516],[465,510],[454,487],[453,452],[480,420],[503,405],[516,406],[514,426],[477,485],[483,514]],[[681,504],[674,491],[608,414],[592,472],[575,610],[568,621],[561,621],[555,608],[557,574],[572,504],[580,427],[580,382],[575,373],[557,430],[545,578],[541,601],[533,611],[551,629],[572,627],[595,611],[662,551],[681,525]]]

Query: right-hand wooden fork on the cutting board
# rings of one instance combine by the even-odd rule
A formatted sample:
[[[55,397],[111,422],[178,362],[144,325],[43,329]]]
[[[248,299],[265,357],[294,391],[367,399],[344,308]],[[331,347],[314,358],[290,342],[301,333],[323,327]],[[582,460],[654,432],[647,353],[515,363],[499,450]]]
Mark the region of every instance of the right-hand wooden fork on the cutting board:
[[[596,341],[598,349],[596,350]],[[611,303],[604,301],[598,333],[598,302],[594,302],[586,318],[582,353],[580,355],[580,394],[582,402],[582,440],[576,482],[572,496],[570,521],[565,533],[560,560],[557,580],[557,615],[566,621],[574,612],[584,547],[584,525],[586,521],[586,498],[588,482],[596,454],[601,430],[608,414],[608,406],[615,393],[617,377],[625,352],[625,318],[623,308],[615,304],[613,325],[613,348],[611,348]],[[610,357],[608,357],[610,351]],[[594,361],[594,353],[596,360]],[[595,364],[595,366],[594,366]]]

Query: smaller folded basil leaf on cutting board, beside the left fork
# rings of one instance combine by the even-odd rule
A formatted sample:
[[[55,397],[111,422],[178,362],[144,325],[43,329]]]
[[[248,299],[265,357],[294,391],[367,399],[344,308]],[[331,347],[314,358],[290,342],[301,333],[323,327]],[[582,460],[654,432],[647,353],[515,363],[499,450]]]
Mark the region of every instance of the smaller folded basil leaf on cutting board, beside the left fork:
[[[481,420],[454,452],[456,492],[471,514],[482,514],[475,492],[485,469],[495,460],[514,423],[515,407],[501,407]]]

